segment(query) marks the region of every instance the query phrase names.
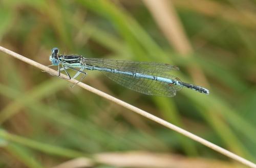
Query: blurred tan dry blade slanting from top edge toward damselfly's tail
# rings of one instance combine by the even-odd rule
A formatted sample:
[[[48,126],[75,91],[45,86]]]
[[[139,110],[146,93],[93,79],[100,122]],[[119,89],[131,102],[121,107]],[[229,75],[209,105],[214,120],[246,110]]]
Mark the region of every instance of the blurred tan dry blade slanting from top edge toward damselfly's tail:
[[[148,10],[152,13],[159,28],[164,36],[169,41],[169,44],[174,46],[175,50],[183,57],[189,57],[193,53],[188,38],[186,37],[182,23],[175,11],[172,1],[167,0],[143,0]],[[194,81],[198,81],[204,86],[209,84],[201,71],[196,65],[188,67],[188,72]]]

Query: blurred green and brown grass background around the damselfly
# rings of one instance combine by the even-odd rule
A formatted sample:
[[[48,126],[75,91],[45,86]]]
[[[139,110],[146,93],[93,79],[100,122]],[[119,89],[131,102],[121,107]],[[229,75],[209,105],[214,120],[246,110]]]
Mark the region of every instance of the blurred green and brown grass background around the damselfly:
[[[252,0],[1,0],[0,45],[44,65],[51,64],[52,47],[61,54],[177,65],[174,75],[210,94],[183,88],[174,98],[148,96],[91,71],[83,82],[255,162],[255,20]],[[79,157],[91,160],[84,167],[163,167],[161,154],[173,159],[164,167],[234,166],[65,80],[4,53],[0,61],[0,167],[52,167]],[[156,163],[115,164],[129,158],[125,154]]]

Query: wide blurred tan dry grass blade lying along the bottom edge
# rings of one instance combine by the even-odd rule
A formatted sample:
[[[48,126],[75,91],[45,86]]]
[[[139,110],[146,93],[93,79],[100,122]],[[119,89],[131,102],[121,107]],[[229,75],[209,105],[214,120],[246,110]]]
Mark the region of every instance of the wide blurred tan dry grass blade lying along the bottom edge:
[[[93,155],[94,159],[85,157],[75,158],[63,162],[52,168],[78,168],[95,167],[97,164],[105,164],[113,167],[147,167],[147,168],[232,168],[237,164],[214,159],[187,158],[181,155],[166,153],[150,153],[144,151],[108,152]]]

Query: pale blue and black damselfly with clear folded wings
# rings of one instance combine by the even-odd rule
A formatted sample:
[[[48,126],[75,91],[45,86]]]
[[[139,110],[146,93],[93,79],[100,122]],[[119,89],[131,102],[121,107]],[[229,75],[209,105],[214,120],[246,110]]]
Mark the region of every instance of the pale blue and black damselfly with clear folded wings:
[[[79,55],[58,55],[57,48],[52,49],[50,61],[52,65],[49,66],[58,66],[57,77],[62,78],[60,77],[60,71],[64,70],[69,77],[67,80],[75,79],[82,74],[83,77],[79,80],[80,82],[87,76],[84,70],[99,70],[118,84],[148,95],[173,97],[182,87],[209,94],[209,90],[201,86],[184,83],[175,76],[164,74],[163,72],[166,71],[179,70],[177,66],[165,63],[84,58]],[[71,78],[67,69],[77,71],[73,78]]]

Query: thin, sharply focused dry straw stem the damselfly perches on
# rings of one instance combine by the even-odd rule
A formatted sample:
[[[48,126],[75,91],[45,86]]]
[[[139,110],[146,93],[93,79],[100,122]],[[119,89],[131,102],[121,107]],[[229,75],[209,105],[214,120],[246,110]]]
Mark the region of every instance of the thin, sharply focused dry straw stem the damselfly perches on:
[[[24,61],[24,62],[26,62],[26,63],[28,63],[28,64],[30,64],[32,66],[35,66],[35,67],[37,67],[37,68],[39,68],[41,70],[46,70],[46,71],[49,71],[52,74],[57,75],[57,71],[56,70],[53,70],[53,69],[51,69],[51,68],[49,68],[49,67],[47,67],[45,65],[39,64],[38,62],[35,62],[35,61],[31,60],[31,59],[28,59],[28,58],[26,58],[26,57],[24,57],[22,55],[14,53],[14,52],[12,52],[12,51],[10,51],[10,50],[2,47],[2,46],[0,46],[0,51],[4,52],[4,53],[6,53],[6,54],[8,54],[8,55],[10,55],[12,57],[15,57],[15,58],[17,58],[19,60],[22,60],[22,61]],[[62,76],[66,77],[65,75],[62,75]],[[78,82],[77,80],[74,80],[74,79],[69,80],[69,81],[71,83],[77,83]],[[117,98],[112,97],[109,94],[106,94],[106,93],[104,93],[104,92],[102,92],[100,90],[97,90],[97,89],[95,89],[95,88],[93,88],[93,87],[91,87],[89,85],[84,84],[84,83],[80,82],[77,85],[82,87],[82,88],[84,88],[84,89],[86,89],[86,90],[88,90],[88,91],[91,91],[91,92],[99,95],[102,98],[108,99],[108,100],[110,100],[110,101],[112,101],[112,102],[114,102],[114,103],[116,103],[116,104],[118,104],[120,106],[123,106],[123,107],[125,107],[127,109],[130,109],[130,110],[132,110],[132,111],[134,111],[134,112],[136,112],[136,113],[138,113],[138,114],[140,114],[140,115],[142,115],[142,116],[144,116],[144,117],[146,117],[148,119],[151,119],[154,122],[157,122],[157,123],[159,123],[159,124],[169,128],[169,129],[172,129],[172,130],[174,130],[174,131],[176,131],[176,132],[178,132],[178,133],[180,133],[180,134],[182,134],[182,135],[184,135],[184,136],[186,136],[186,137],[188,137],[190,139],[194,139],[195,141],[205,145],[206,147],[209,147],[210,149],[215,150],[215,151],[217,151],[217,152],[219,152],[219,153],[221,153],[221,154],[223,154],[223,155],[225,155],[225,156],[227,156],[229,158],[237,160],[237,161],[239,161],[239,162],[241,162],[241,163],[243,163],[243,164],[245,164],[247,166],[256,168],[256,164],[252,163],[251,161],[246,160],[245,158],[242,158],[242,157],[240,157],[240,156],[238,156],[238,155],[236,155],[236,154],[234,154],[234,153],[232,153],[232,152],[230,152],[228,150],[225,150],[225,149],[215,145],[214,143],[211,143],[211,142],[209,142],[209,141],[207,141],[207,140],[205,140],[205,139],[203,139],[203,138],[201,138],[201,137],[199,137],[199,136],[197,136],[197,135],[195,135],[193,133],[190,133],[190,132],[188,132],[188,131],[186,131],[186,130],[184,130],[182,128],[179,128],[179,127],[177,127],[177,126],[175,126],[175,125],[173,125],[171,123],[168,123],[168,122],[164,121],[163,119],[161,119],[161,118],[159,118],[159,117],[157,117],[155,115],[152,115],[152,114],[150,114],[150,113],[148,113],[148,112],[146,112],[144,110],[141,110],[141,109],[139,109],[139,108],[137,108],[135,106],[132,106],[132,105],[130,105],[128,103],[125,103],[125,102],[123,102],[123,101],[121,101],[121,100],[119,100]]]

